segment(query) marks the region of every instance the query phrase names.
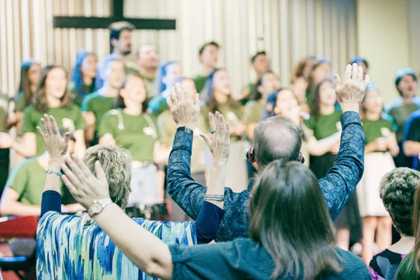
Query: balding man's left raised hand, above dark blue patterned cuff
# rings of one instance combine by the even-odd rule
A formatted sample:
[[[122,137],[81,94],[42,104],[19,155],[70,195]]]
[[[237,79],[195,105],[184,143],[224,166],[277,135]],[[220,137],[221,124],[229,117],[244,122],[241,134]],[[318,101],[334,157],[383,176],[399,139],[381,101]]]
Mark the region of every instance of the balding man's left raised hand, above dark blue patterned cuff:
[[[193,130],[200,115],[200,94],[195,94],[193,100],[188,92],[184,92],[181,84],[176,83],[167,97],[167,104],[175,123]]]

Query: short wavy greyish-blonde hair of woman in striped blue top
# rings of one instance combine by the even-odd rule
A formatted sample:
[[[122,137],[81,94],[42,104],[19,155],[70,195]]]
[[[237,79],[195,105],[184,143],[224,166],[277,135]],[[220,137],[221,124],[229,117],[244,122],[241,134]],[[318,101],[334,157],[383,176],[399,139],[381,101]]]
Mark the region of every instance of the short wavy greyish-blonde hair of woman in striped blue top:
[[[130,152],[115,146],[96,145],[88,148],[83,156],[83,162],[95,176],[94,163],[98,160],[109,183],[111,200],[119,207],[125,208],[131,192],[132,156]]]

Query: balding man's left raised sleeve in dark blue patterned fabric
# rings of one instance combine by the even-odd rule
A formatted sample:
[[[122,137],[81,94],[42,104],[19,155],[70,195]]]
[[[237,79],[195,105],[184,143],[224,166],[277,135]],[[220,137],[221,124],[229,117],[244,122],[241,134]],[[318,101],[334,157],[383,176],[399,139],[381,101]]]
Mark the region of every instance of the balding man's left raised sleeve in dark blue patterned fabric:
[[[167,188],[172,199],[193,219],[202,207],[207,187],[191,177],[191,149],[193,131],[180,127],[175,134],[174,145],[167,168]]]

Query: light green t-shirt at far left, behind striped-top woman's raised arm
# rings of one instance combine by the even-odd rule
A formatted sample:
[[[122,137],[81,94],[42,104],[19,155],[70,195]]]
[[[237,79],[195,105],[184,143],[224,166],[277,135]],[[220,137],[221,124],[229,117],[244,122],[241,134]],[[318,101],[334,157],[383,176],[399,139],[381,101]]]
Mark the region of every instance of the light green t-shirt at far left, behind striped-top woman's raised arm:
[[[12,188],[19,194],[18,202],[26,205],[41,206],[42,193],[47,174],[38,163],[38,157],[28,158],[16,165],[6,183],[5,188]],[[66,192],[62,181],[60,189],[63,196],[62,204],[76,203]]]

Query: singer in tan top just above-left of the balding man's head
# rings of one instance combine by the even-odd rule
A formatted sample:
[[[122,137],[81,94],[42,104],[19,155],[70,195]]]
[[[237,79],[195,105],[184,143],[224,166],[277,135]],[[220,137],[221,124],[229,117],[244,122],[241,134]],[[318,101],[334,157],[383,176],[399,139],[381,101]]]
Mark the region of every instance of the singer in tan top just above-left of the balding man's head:
[[[262,73],[253,85],[253,92],[250,97],[247,97],[248,103],[245,105],[244,116],[242,116],[242,122],[247,125],[247,135],[251,142],[253,140],[253,129],[260,121],[262,113],[264,113],[267,97],[279,88],[280,85],[272,71]]]

